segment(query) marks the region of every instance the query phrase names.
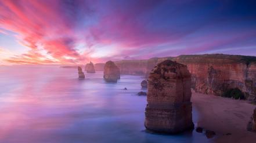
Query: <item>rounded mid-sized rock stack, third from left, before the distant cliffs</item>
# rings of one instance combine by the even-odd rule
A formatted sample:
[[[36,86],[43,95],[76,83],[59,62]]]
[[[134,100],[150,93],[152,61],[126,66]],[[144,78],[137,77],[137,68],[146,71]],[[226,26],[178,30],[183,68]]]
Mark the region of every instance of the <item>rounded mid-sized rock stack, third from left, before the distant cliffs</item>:
[[[117,82],[120,79],[120,69],[112,61],[107,61],[104,66],[104,80],[107,82]]]

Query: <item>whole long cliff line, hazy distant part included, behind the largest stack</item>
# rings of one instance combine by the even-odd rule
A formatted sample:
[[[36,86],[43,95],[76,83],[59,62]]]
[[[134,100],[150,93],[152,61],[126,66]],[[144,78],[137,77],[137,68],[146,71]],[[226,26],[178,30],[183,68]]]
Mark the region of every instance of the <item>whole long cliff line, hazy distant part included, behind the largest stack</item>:
[[[180,55],[179,57],[115,62],[121,74],[145,75],[166,59],[188,66],[196,92],[222,96],[238,88],[248,100],[256,100],[256,57],[224,54]]]

